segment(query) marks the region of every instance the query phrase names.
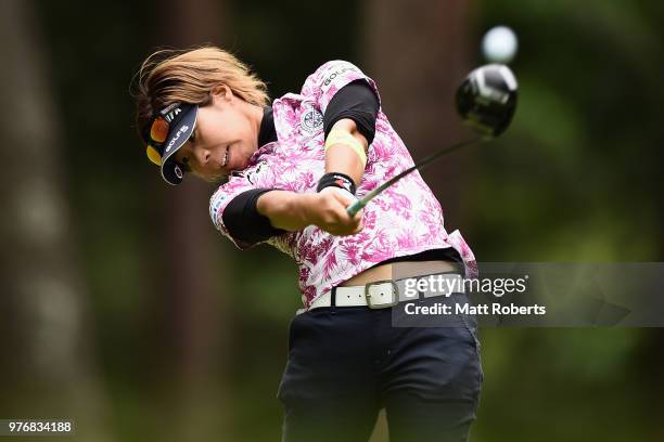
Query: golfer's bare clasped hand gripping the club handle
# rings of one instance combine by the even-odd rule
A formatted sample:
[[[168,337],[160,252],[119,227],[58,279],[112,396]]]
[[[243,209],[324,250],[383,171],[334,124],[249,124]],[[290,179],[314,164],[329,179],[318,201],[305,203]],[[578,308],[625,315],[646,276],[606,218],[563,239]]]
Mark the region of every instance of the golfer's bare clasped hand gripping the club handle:
[[[357,198],[348,191],[340,187],[325,187],[317,193],[310,207],[310,222],[332,235],[355,235],[365,227],[362,211],[349,217],[346,207]]]

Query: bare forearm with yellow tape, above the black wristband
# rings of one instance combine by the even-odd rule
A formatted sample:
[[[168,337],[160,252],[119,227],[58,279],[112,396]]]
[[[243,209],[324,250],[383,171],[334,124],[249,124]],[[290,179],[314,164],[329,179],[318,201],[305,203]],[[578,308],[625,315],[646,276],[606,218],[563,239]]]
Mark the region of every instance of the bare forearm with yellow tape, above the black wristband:
[[[339,129],[348,132],[359,141],[365,153],[367,152],[367,139],[357,130],[354,120],[344,118],[336,121],[332,130]],[[345,173],[353,179],[356,185],[359,185],[365,173],[365,166],[353,147],[342,143],[332,144],[325,153],[325,173],[330,172]]]

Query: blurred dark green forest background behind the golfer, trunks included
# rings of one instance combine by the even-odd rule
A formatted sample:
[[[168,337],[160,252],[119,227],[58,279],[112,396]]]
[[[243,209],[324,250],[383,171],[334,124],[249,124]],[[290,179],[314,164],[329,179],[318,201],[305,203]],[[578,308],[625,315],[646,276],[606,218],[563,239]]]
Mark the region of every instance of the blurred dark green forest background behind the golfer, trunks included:
[[[296,268],[234,249],[214,187],[169,187],[146,160],[129,84],[162,47],[230,50],[271,98],[349,60],[421,158],[463,135],[455,88],[511,26],[512,128],[423,172],[448,232],[478,261],[663,260],[662,2],[3,0],[0,17],[0,419],[74,418],[85,441],[280,438]],[[481,339],[473,441],[664,440],[662,329]]]

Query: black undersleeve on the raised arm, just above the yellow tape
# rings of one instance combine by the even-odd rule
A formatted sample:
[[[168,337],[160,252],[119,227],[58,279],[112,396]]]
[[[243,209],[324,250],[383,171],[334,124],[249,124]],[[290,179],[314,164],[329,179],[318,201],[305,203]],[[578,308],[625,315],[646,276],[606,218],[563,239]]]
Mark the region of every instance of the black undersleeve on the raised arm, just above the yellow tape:
[[[380,103],[375,92],[366,80],[355,80],[341,88],[330,101],[323,115],[325,139],[336,121],[350,118],[357,130],[371,144],[375,134],[375,117]]]

